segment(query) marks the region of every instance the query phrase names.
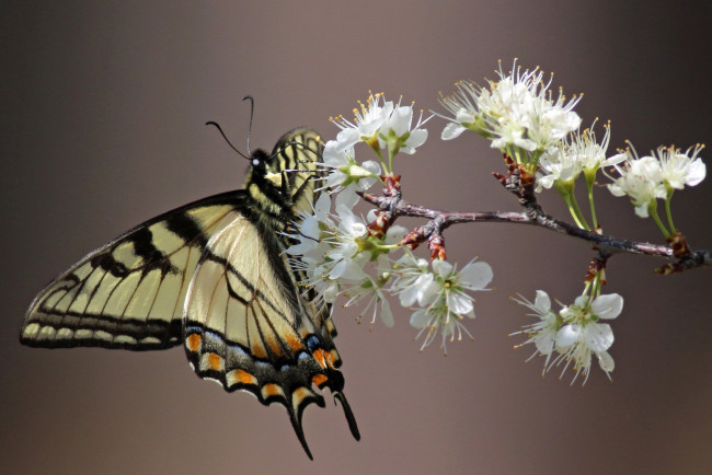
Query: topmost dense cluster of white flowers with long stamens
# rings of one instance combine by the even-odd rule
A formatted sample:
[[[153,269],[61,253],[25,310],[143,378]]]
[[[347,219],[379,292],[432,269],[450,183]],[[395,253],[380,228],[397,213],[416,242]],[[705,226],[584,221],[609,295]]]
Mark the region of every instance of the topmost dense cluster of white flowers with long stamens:
[[[491,81],[489,90],[461,81],[455,94],[440,95],[440,103],[453,116],[440,116],[451,123],[443,130],[443,140],[470,129],[490,138],[493,148],[532,152],[549,149],[578,128],[581,118],[573,108],[581,96],[566,102],[560,92],[554,101],[551,81],[542,81],[541,70],[522,70],[516,61],[513,70],[505,73],[499,65],[499,81]]]

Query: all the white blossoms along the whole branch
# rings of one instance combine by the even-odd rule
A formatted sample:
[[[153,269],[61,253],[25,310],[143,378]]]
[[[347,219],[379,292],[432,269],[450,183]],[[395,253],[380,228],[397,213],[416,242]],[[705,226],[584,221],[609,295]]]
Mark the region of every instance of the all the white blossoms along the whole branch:
[[[628,196],[638,216],[653,216],[666,238],[675,232],[669,200],[675,189],[696,186],[704,178],[707,170],[698,157],[702,146],[685,152],[661,147],[643,158],[631,149],[609,155],[610,124],[605,124],[600,140],[596,121],[590,128],[579,128],[582,119],[574,107],[582,95],[566,100],[561,89],[555,95],[552,79],[544,81],[543,71],[524,70],[516,61],[510,72],[499,66],[497,73],[498,80],[487,81],[487,86],[460,81],[453,94],[440,95],[447,115],[424,117],[421,112],[416,118],[412,105],[387,101],[379,93],[359,103],[352,120],[343,116],[330,119],[340,131],[324,144],[319,165],[324,172],[318,178],[319,189],[324,193],[313,211],[299,217],[287,232],[292,245],[286,254],[292,267],[307,276],[300,283],[310,296],[315,294],[317,304],[329,308],[343,298],[345,306],[363,305],[371,324],[380,317],[386,326],[392,326],[398,312],[391,303],[398,301],[410,309],[410,323],[420,329],[418,336],[424,335],[421,349],[438,336],[444,350],[448,340],[461,339],[463,334],[471,337],[464,326],[467,318],[474,317],[471,293],[487,289],[492,267],[473,259],[458,269],[457,264],[445,260],[444,247],[441,253],[430,248],[433,260],[425,260],[411,250],[421,231],[409,233],[394,225],[397,216],[389,215],[388,207],[371,210],[365,218],[354,212],[361,196],[376,184],[384,186],[386,196],[400,199],[394,159],[401,152],[416,152],[428,138],[425,125],[434,116],[447,120],[443,140],[475,131],[505,155],[507,164],[516,163],[517,173],[530,178],[521,182],[526,186],[538,193],[555,189],[582,229],[602,233],[594,206],[597,174],[602,170],[611,181],[610,193]],[[374,153],[371,160],[356,159],[359,143]],[[588,190],[588,217],[574,194],[581,176]],[[657,199],[666,200],[669,230],[655,212]],[[615,364],[608,350],[615,338],[611,326],[601,322],[616,318],[623,308],[621,296],[601,293],[605,263],[588,270],[584,291],[572,304],[560,304],[559,311],[552,310],[543,290],[537,291],[533,303],[522,297],[514,299],[538,318],[517,332],[528,337],[518,346],[536,346],[532,357],[546,357],[543,373],[554,366],[563,366],[564,371],[573,368],[574,381],[583,375],[584,383],[594,356],[610,378]]]

